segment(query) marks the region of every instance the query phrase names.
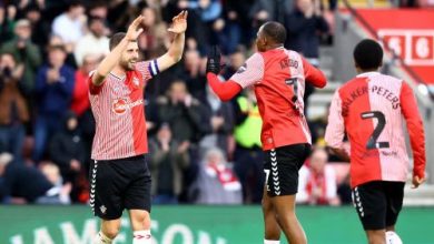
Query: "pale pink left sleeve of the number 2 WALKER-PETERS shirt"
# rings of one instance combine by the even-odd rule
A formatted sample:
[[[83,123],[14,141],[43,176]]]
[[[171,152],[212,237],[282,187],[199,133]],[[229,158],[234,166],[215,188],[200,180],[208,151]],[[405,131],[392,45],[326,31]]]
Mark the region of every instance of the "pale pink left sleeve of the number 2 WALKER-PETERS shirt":
[[[345,135],[344,118],[342,116],[342,100],[339,90],[333,95],[329,113],[328,124],[325,133],[325,141],[328,146],[333,149],[343,149],[343,140]]]

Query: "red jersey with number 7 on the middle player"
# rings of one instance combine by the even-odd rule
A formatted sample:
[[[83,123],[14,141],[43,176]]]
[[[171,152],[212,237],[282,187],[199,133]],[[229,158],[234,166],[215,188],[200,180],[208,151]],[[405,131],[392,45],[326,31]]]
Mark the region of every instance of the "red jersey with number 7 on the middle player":
[[[263,149],[312,143],[304,115],[305,82],[323,88],[324,74],[297,52],[277,48],[253,54],[230,78],[241,88],[255,87],[263,119]]]

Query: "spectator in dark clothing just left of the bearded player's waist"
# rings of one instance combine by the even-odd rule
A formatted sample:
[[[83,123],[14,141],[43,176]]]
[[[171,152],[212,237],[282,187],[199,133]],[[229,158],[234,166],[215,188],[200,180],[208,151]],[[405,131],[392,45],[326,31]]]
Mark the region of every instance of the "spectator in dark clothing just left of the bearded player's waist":
[[[77,115],[69,111],[63,120],[63,129],[58,131],[49,144],[50,159],[59,166],[65,182],[72,183],[71,199],[78,201],[78,191],[73,186],[80,173],[85,174],[86,150],[78,129]]]

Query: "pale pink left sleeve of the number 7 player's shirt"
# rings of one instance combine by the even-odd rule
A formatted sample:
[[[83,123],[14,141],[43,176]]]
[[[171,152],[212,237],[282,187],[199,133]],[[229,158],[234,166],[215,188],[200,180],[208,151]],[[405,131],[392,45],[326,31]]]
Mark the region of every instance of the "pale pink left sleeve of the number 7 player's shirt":
[[[235,81],[243,89],[254,85],[263,80],[264,58],[259,53],[253,54],[246,63],[229,79]]]

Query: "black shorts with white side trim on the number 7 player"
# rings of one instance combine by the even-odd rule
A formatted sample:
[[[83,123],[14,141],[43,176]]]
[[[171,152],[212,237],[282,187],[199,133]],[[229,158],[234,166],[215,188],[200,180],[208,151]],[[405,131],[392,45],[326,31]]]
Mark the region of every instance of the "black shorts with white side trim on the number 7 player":
[[[309,154],[310,145],[307,143],[265,151],[265,184],[269,196],[297,193],[298,170]]]

